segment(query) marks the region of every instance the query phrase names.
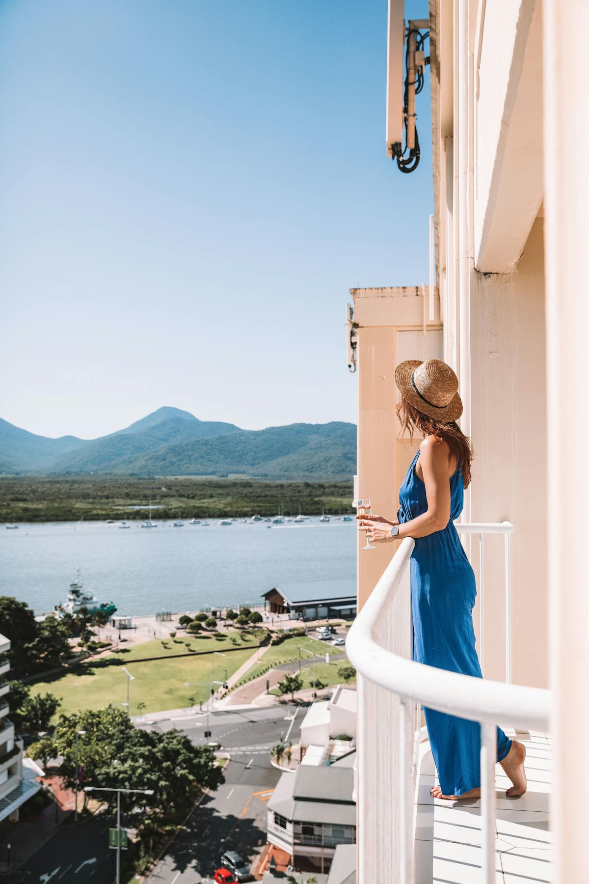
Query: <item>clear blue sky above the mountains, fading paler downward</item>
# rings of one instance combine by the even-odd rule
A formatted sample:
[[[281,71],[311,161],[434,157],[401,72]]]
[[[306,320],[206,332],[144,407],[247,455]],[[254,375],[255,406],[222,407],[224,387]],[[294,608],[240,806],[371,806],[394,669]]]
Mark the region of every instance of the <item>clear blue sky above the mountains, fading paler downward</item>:
[[[0,2],[1,416],[355,420],[348,289],[427,275],[429,72],[403,175],[386,25],[386,0]]]

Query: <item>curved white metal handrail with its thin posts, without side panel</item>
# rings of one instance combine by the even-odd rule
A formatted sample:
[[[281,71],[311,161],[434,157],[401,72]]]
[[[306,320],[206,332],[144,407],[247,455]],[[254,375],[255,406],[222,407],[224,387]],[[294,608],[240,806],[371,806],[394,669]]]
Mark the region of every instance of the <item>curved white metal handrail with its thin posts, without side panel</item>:
[[[470,534],[505,534],[510,522],[457,524],[457,530]],[[499,722],[523,728],[547,730],[549,692],[505,682],[481,680],[471,675],[425,666],[391,652],[379,642],[379,632],[402,581],[408,579],[409,562],[415,541],[406,537],[388,568],[351,626],[346,653],[358,672],[401,698],[399,730],[399,773],[401,784],[401,880],[413,884],[413,789],[412,747],[414,703],[441,713],[480,722],[482,863],[486,884],[495,881],[495,759],[496,726]],[[509,544],[506,543],[506,644],[510,645]],[[481,567],[482,573],[482,567]],[[510,650],[506,667],[510,666]],[[509,668],[507,669],[510,675]],[[362,746],[359,745],[359,751]],[[366,882],[360,882],[366,884]]]

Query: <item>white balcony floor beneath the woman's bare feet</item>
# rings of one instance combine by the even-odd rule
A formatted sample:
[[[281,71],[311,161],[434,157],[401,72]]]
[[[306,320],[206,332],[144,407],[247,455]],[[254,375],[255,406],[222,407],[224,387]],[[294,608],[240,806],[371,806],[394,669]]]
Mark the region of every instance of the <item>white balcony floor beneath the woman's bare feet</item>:
[[[510,728],[505,733],[516,736]],[[517,733],[525,744],[528,790],[508,798],[510,781],[496,766],[496,884],[547,884],[552,875],[552,837],[548,831],[551,750],[549,737]],[[480,801],[443,801],[429,794],[437,782],[429,743],[419,748],[416,788],[416,884],[479,884]]]

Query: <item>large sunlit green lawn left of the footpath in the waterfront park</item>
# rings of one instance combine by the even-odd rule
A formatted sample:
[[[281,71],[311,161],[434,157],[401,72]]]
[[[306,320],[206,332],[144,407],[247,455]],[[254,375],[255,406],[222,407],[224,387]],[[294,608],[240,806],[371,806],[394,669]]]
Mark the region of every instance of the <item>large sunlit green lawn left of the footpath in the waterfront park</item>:
[[[189,697],[208,697],[208,683],[211,680],[211,661],[215,660],[215,679],[223,680],[234,673],[252,655],[252,649],[244,649],[227,657],[180,657],[178,659],[151,660],[133,663],[126,659],[129,672],[134,676],[131,682],[131,714],[140,713],[137,705],[145,703],[145,712],[159,712],[162,709],[178,709],[190,705]],[[205,682],[200,687],[184,686],[184,682]],[[112,703],[121,705],[126,701],[127,676],[118,666],[78,667],[64,675],[54,675],[31,684],[32,694],[48,692],[59,697],[62,705],[57,711],[70,715],[80,709],[102,709]],[[56,720],[57,720],[56,716]]]

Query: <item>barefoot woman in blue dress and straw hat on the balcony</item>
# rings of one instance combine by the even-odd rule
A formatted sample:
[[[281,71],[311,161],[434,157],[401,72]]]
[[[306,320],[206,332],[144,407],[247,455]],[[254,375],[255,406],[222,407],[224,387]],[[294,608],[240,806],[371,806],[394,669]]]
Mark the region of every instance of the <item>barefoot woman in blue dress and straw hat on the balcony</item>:
[[[410,359],[395,370],[401,401],[401,435],[423,438],[399,491],[397,520],[360,519],[373,543],[414,537],[411,560],[413,659],[427,666],[481,678],[474,645],[474,572],[453,522],[462,512],[471,481],[472,446],[456,421],[462,414],[458,380],[439,359]],[[427,735],[440,780],[435,798],[480,796],[480,726],[425,709]],[[525,746],[497,728],[497,761],[513,786],[525,793]]]

